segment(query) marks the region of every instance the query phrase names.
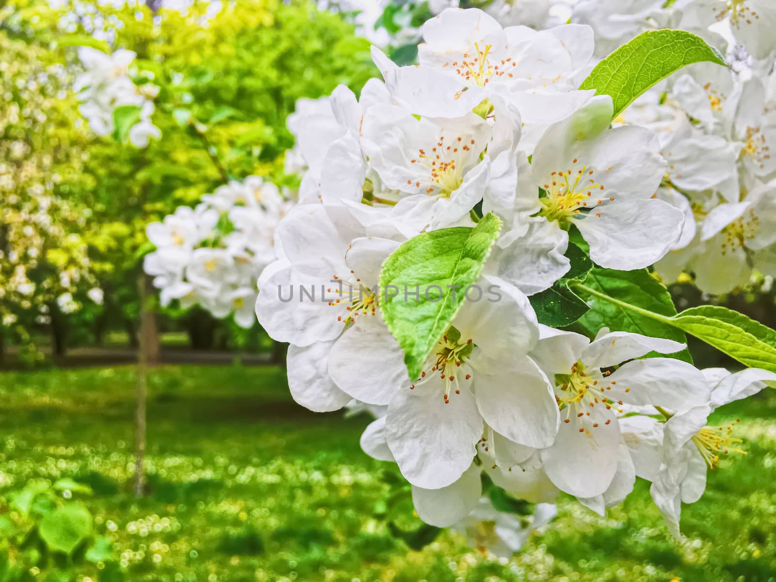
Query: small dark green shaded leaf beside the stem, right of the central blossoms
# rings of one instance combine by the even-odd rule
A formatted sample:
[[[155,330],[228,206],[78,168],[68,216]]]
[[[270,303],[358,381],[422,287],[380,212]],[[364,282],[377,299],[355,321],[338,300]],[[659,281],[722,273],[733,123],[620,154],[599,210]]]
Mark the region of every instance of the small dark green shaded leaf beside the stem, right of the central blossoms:
[[[581,282],[587,277],[587,272],[593,267],[590,257],[576,244],[569,243],[564,256],[571,262],[571,267],[562,279],[540,293],[530,296],[540,324],[550,327],[565,327],[582,317],[590,307],[577,293],[569,289],[573,282]]]

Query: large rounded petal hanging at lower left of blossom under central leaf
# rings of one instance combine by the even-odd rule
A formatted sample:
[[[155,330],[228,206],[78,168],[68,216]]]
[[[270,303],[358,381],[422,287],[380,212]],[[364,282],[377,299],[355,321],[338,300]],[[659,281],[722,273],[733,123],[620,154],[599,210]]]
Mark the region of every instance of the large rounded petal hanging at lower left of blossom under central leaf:
[[[388,406],[388,446],[401,473],[416,487],[446,487],[472,463],[483,421],[474,397],[462,386],[445,404],[442,382],[399,390]]]

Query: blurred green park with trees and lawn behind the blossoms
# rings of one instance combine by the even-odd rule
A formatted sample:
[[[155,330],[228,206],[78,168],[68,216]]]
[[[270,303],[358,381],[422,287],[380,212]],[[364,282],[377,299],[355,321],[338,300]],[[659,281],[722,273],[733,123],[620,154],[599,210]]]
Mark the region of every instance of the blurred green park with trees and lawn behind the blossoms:
[[[358,93],[379,73],[347,12],[129,4],[0,2],[0,580],[776,579],[771,390],[712,419],[740,417],[749,454],[710,474],[684,545],[639,480],[606,518],[560,497],[521,553],[493,559],[417,520],[397,468],[359,448],[368,414],[296,405],[284,346],[258,324],[161,307],[142,268],[147,224],[230,177],[294,189],[297,99]],[[95,136],[79,113],[78,47],[102,47],[103,29],[175,78],[154,116],[163,137],[144,149]],[[776,327],[774,292],[753,289],[670,286],[680,308],[721,303]],[[699,367],[731,364],[691,352]],[[71,552],[29,535],[20,508],[41,491],[88,511]]]

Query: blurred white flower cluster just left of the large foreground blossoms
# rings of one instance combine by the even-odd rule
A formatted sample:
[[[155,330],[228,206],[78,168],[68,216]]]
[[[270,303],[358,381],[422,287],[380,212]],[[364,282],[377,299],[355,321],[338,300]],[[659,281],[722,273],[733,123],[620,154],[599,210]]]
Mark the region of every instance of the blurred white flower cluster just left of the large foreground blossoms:
[[[144,270],[161,289],[161,303],[199,303],[242,327],[255,323],[256,280],[275,261],[274,234],[291,203],[259,176],[220,186],[196,208],[179,206],[147,226],[156,251]]]

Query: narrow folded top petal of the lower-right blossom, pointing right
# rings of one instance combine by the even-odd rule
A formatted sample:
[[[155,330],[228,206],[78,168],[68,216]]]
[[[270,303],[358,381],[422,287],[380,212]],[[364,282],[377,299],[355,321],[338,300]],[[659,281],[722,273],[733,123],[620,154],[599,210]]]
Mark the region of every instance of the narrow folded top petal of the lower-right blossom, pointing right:
[[[686,347],[687,345],[678,341],[650,338],[648,335],[632,334],[629,331],[611,331],[599,334],[580,357],[585,365],[606,368],[621,364],[625,360],[640,358],[650,352],[674,354]]]

